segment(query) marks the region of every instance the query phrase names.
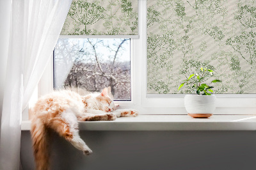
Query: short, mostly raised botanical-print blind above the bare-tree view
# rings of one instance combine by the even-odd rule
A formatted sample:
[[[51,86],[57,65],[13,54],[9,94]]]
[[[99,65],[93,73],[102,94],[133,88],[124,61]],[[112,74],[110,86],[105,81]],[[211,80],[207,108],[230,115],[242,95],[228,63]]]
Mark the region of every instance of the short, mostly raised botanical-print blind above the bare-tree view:
[[[61,35],[138,35],[138,0],[73,0]]]

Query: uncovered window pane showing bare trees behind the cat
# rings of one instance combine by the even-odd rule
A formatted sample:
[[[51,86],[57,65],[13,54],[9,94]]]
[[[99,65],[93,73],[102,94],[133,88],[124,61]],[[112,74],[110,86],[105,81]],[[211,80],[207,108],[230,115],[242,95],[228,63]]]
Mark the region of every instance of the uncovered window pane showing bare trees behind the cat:
[[[54,50],[54,88],[81,95],[108,87],[114,100],[131,100],[130,39],[60,38]]]

